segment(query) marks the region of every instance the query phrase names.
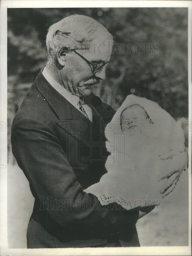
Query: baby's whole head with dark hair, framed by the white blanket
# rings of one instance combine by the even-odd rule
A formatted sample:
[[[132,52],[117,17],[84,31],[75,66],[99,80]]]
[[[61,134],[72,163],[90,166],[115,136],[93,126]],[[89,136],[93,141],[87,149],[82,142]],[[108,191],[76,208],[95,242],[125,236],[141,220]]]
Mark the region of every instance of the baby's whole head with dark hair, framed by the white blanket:
[[[154,124],[145,109],[133,104],[127,106],[120,115],[120,125],[122,131],[141,133],[142,129],[150,124]],[[137,132],[136,132],[137,131]]]

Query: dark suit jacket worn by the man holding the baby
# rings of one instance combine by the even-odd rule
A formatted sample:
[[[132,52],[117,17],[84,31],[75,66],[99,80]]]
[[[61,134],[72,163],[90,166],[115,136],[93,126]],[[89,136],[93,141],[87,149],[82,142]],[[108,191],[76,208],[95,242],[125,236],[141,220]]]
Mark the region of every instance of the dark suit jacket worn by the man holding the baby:
[[[101,206],[83,189],[106,173],[105,125],[114,110],[91,94],[93,124],[38,74],[11,130],[12,152],[35,198],[28,248],[139,246],[139,212]],[[110,206],[110,207],[109,207]]]

